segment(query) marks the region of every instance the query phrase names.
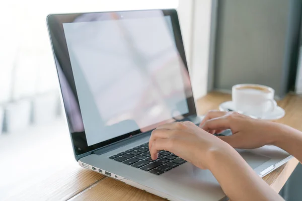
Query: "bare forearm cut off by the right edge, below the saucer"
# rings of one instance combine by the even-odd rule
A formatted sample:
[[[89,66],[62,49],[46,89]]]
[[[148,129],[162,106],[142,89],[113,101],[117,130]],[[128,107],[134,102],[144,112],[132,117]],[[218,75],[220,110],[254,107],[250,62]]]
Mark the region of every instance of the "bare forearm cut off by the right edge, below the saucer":
[[[289,126],[276,124],[279,132],[273,137],[272,144],[287,151],[302,163],[302,132]]]

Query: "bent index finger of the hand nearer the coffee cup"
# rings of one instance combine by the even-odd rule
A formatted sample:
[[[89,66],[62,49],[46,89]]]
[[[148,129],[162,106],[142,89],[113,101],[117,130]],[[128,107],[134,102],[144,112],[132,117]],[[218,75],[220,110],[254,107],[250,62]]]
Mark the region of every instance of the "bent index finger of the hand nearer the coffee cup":
[[[207,120],[200,128],[205,131],[209,130],[226,130],[230,129],[230,120],[226,116]]]

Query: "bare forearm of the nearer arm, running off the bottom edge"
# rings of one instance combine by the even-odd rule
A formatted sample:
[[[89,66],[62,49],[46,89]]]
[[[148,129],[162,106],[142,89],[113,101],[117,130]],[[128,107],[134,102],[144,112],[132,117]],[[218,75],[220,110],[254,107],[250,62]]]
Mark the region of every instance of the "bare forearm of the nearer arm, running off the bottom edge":
[[[231,200],[283,200],[233,148],[212,150],[210,160],[209,170]]]

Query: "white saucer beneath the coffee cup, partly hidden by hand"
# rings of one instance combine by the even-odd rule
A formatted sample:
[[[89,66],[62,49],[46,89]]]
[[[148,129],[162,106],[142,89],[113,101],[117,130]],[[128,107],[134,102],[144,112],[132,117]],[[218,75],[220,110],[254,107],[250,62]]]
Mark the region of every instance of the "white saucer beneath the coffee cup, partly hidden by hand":
[[[219,110],[226,111],[226,112],[235,111],[234,103],[232,101],[224,102],[220,104]],[[279,106],[277,106],[277,108],[274,111],[265,114],[263,117],[255,117],[255,116],[251,116],[251,117],[255,119],[263,119],[263,120],[277,120],[284,117],[284,115],[285,115],[285,111]]]

